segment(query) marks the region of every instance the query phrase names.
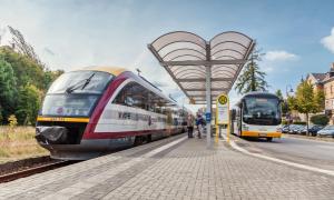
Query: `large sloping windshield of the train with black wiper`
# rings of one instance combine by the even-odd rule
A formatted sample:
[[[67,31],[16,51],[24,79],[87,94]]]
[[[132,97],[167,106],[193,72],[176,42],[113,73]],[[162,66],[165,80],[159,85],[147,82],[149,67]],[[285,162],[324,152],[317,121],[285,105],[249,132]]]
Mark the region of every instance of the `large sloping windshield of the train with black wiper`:
[[[111,74],[98,71],[65,73],[48,90],[40,114],[88,117],[111,79]]]

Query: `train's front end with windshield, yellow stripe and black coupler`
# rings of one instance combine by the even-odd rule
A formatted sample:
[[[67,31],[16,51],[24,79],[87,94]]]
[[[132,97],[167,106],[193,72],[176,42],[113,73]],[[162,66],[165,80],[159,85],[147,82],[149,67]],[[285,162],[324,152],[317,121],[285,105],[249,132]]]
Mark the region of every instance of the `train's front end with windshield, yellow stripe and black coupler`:
[[[36,127],[36,139],[50,151],[51,158],[81,160],[95,157],[89,154],[92,152],[81,139],[112,78],[108,72],[81,70],[63,73],[51,84]],[[87,153],[76,153],[82,151]]]

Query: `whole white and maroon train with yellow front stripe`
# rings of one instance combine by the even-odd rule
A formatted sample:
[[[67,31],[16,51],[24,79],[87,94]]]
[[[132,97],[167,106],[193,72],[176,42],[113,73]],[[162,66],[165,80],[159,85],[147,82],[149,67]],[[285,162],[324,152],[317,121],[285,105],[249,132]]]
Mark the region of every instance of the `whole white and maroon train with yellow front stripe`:
[[[187,111],[140,76],[91,67],[63,73],[49,88],[36,139],[51,158],[85,160],[180,133]]]

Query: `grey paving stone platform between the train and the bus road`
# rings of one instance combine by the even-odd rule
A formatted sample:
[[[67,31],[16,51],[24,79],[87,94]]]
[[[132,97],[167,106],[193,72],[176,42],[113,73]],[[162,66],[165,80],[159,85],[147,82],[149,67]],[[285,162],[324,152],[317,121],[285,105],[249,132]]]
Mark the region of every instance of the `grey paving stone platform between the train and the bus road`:
[[[0,184],[0,199],[333,199],[334,178],[183,136]],[[155,152],[168,142],[176,146]],[[154,152],[153,152],[154,151]]]

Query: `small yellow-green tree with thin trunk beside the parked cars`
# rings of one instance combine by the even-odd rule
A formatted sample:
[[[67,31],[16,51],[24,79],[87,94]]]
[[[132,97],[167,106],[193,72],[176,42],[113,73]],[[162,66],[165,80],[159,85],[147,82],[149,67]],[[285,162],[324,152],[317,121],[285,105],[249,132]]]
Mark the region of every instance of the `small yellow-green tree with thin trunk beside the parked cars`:
[[[288,102],[293,110],[297,110],[299,113],[305,113],[307,126],[306,134],[308,134],[308,114],[321,111],[321,106],[314,94],[313,86],[303,80],[297,87],[296,96],[289,97]]]

